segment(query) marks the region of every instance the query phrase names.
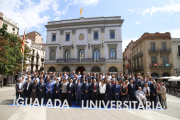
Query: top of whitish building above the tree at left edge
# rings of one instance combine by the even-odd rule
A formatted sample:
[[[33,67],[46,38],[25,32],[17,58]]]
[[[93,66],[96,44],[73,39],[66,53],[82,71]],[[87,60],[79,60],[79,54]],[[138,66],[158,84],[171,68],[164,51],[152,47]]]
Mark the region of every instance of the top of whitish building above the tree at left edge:
[[[11,19],[7,18],[6,16],[3,15],[3,13],[0,12],[0,28],[2,27],[3,24],[7,25],[7,32],[8,33],[13,33],[13,34],[19,34],[19,28],[18,24]]]

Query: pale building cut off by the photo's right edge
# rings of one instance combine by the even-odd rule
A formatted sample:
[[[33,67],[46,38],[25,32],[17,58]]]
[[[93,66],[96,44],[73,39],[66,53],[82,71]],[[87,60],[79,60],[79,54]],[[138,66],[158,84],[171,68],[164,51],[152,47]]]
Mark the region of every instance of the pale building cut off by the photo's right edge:
[[[172,38],[173,68],[175,75],[180,76],[180,38]]]

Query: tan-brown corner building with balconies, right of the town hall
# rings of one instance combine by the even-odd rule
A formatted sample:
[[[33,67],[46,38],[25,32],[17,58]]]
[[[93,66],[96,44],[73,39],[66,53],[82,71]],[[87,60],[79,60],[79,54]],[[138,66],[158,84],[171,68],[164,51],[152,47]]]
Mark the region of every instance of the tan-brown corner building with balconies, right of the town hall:
[[[131,49],[133,73],[153,78],[174,75],[170,33],[144,33]]]

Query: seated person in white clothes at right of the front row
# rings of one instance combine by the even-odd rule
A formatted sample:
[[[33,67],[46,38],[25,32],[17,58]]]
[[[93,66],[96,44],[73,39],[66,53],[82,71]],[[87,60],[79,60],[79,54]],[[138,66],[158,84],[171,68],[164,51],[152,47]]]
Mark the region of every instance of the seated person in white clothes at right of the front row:
[[[136,98],[139,102],[143,102],[143,104],[146,104],[146,95],[144,92],[141,90],[141,87],[138,87],[138,90],[136,91]]]

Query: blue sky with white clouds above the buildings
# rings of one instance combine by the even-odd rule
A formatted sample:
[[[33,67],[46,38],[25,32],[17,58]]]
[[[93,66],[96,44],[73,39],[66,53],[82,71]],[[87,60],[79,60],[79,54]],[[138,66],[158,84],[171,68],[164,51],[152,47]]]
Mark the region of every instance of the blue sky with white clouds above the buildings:
[[[145,32],[170,32],[180,38],[180,0],[0,0],[0,12],[18,23],[20,34],[39,32],[46,42],[48,21],[77,19],[83,16],[121,16],[122,49]]]

